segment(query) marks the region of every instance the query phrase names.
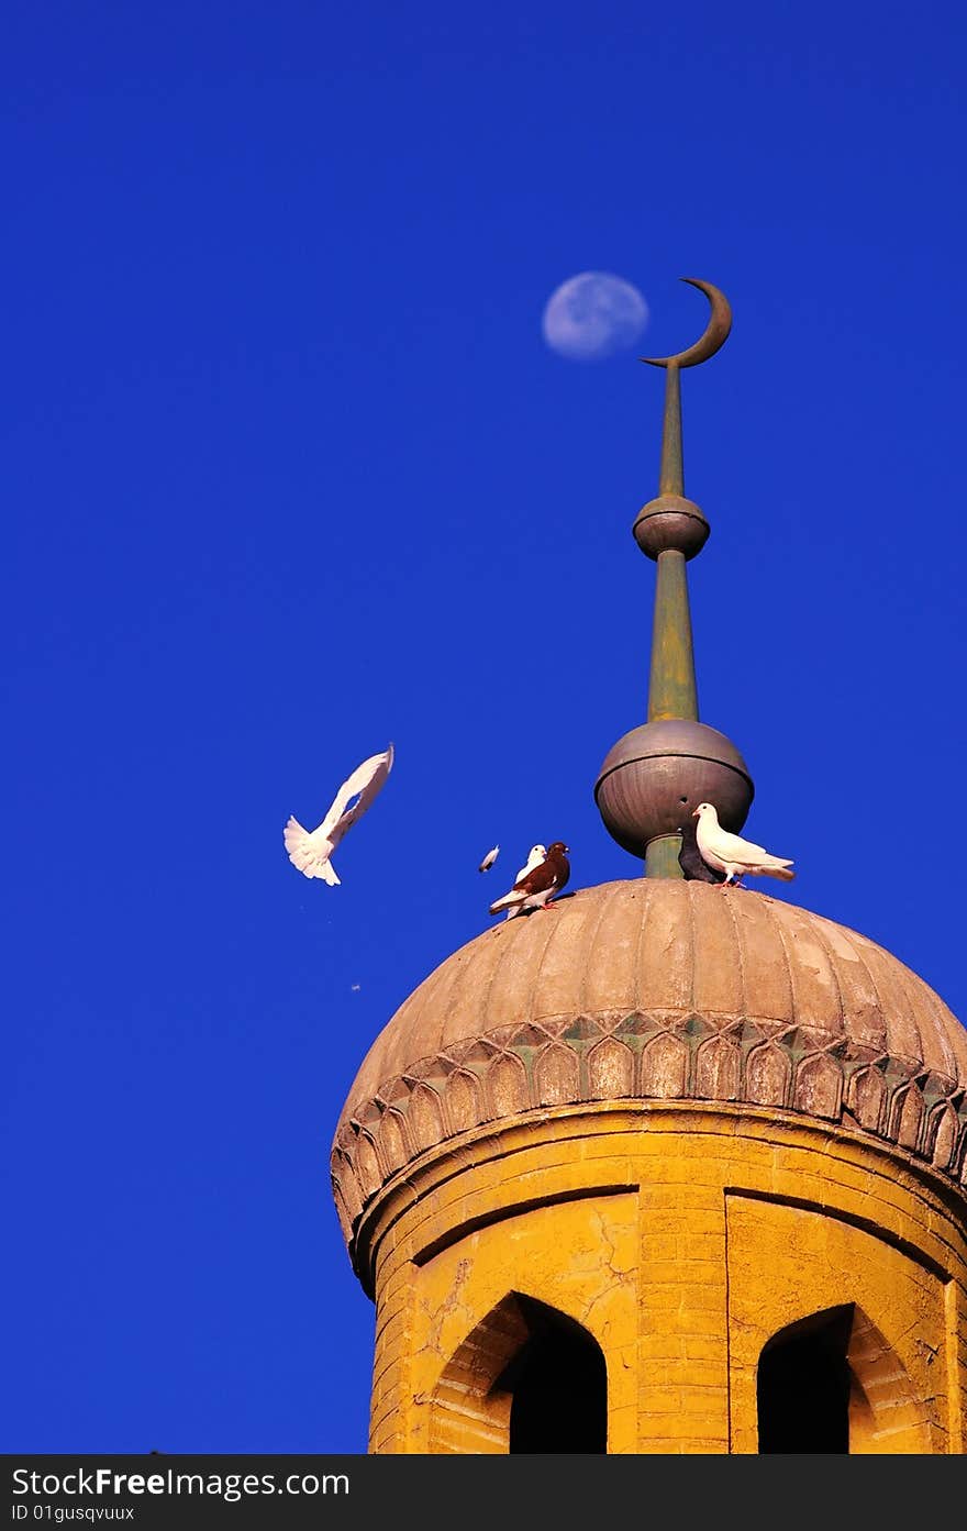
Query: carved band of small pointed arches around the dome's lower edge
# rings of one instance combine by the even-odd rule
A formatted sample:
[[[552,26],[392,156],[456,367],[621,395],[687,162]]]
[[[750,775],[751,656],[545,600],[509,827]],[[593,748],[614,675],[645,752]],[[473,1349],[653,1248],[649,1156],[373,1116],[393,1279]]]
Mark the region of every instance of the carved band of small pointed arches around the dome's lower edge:
[[[603,1099],[773,1105],[903,1147],[967,1185],[965,1092],[923,1064],[770,1021],[577,1015],[462,1041],[357,1102],[332,1150],[344,1231],[378,1174],[386,1183],[461,1131]]]

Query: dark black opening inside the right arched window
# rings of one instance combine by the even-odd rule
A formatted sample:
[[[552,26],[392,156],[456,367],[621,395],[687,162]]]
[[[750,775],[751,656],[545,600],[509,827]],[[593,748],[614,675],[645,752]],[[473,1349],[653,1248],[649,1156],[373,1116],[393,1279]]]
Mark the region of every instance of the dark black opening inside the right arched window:
[[[849,1451],[851,1329],[852,1307],[829,1307],[764,1346],[756,1378],[760,1454]]]

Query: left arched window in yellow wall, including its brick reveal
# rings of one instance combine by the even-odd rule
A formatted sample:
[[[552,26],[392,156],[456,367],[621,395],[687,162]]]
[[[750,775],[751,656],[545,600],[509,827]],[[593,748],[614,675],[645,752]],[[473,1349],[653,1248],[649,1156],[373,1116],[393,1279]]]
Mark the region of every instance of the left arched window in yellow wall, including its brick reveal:
[[[604,1453],[604,1355],[574,1318],[511,1292],[444,1367],[431,1419],[431,1451]]]

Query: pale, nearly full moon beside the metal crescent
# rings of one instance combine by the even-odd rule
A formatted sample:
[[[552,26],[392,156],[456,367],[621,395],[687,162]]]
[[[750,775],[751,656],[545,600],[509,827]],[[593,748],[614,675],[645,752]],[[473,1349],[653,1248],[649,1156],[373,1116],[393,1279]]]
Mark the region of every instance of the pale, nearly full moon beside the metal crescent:
[[[603,361],[630,351],[647,322],[637,286],[609,271],[581,271],[551,294],[542,329],[551,351],[569,361]]]

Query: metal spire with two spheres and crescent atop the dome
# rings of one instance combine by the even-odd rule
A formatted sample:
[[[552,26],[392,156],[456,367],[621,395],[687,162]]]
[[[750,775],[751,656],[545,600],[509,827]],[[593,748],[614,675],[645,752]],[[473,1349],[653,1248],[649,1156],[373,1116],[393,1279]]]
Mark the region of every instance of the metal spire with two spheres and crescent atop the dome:
[[[702,337],[673,357],[643,357],[666,371],[661,475],[656,499],[633,524],[635,542],[658,565],[647,723],[609,750],[594,788],[609,834],[644,857],[647,877],[681,877],[681,827],[699,802],[713,802],[733,831],[745,824],[753,781],[737,749],[698,721],[698,687],[685,563],[705,545],[708,522],[685,499],[681,444],[681,369],[707,361],[725,343],[731,308],[710,282],[682,277],[705,294],[711,317]]]

